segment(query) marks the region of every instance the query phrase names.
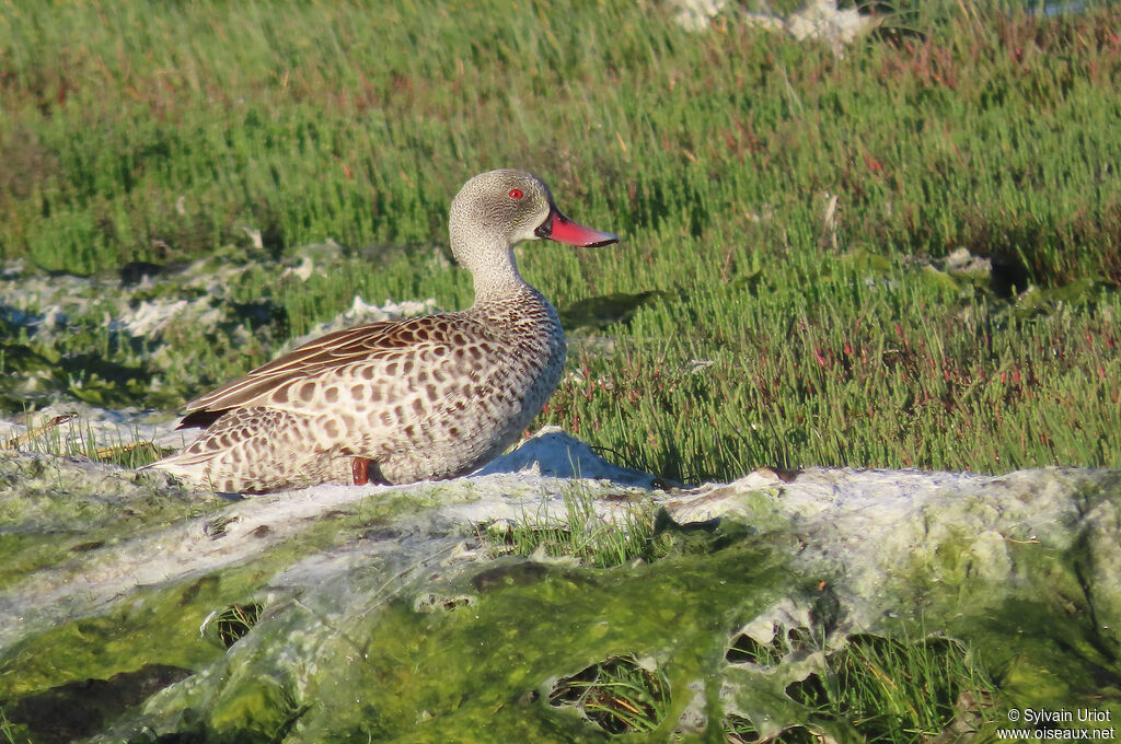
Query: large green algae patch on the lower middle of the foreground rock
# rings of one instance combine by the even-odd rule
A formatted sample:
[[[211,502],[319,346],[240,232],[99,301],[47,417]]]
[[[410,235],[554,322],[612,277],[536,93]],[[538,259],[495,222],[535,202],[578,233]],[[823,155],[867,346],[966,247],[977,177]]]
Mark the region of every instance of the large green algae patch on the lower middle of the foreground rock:
[[[192,733],[221,741],[245,726],[257,731],[261,722],[282,720],[288,708],[277,707],[279,698],[266,692],[299,689],[296,699],[314,705],[291,741],[363,734],[456,741],[450,732],[481,731],[497,740],[595,741],[594,727],[548,705],[556,680],[613,655],[637,654],[656,659],[670,689],[684,690],[723,663],[725,635],[736,619],[782,590],[751,589],[778,566],[773,556],[745,545],[639,570],[550,567],[526,574],[521,567],[532,564],[501,562],[510,570],[495,575],[488,568],[456,579],[478,599],[451,612],[418,613],[406,593],[377,613],[339,625],[323,617],[308,627],[306,610],[291,607],[287,616],[257,625],[221,671],[168,690],[149,710],[191,709],[216,696],[221,715],[215,710]],[[667,634],[667,627],[674,632]],[[299,669],[277,669],[269,649],[279,639],[311,652],[313,659],[300,664],[305,670],[332,672],[300,680]],[[234,683],[242,679],[252,682]],[[671,728],[684,705],[684,696],[674,698],[663,731]],[[232,712],[242,716],[237,726]],[[462,736],[471,741],[472,734]]]

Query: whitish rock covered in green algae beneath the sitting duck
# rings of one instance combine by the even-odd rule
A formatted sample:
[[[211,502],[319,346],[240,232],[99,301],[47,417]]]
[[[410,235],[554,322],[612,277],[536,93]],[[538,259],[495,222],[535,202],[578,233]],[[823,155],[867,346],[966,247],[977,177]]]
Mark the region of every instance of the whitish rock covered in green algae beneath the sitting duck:
[[[895,741],[839,680],[914,652],[994,685],[938,692],[945,741],[1011,710],[1090,712],[1065,724],[1087,731],[1121,715],[1118,472],[666,492],[552,430],[411,486],[228,501],[17,453],[0,484],[15,741]],[[485,538],[563,524],[574,500],[582,530],[661,510],[658,558],[596,569]],[[601,678],[648,681],[624,700],[645,728],[590,691]]]

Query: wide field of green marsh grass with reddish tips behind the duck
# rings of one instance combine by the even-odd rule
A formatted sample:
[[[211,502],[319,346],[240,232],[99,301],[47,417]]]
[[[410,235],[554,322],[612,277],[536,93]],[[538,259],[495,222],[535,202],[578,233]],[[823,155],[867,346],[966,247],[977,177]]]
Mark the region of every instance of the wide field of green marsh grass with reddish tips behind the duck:
[[[354,294],[462,307],[447,204],[524,166],[623,238],[521,249],[535,286],[562,309],[660,292],[594,332],[611,353],[574,337],[539,422],[685,481],[1121,466],[1117,4],[923,3],[892,21],[923,36],[841,58],[641,3],[3,9],[0,258],[109,271],[248,227],[280,260],[353,251],[334,276],[238,282],[291,335]],[[957,248],[993,280],[942,271]],[[187,398],[278,346],[183,343],[188,363],[130,384]]]

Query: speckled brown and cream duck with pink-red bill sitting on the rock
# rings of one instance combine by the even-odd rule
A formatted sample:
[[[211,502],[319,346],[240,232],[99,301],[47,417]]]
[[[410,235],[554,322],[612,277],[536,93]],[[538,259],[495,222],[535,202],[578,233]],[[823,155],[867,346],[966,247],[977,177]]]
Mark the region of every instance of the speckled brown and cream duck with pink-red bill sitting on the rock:
[[[463,185],[448,233],[474,281],[471,307],[307,342],[188,402],[177,428],[202,433],[149,467],[262,494],[453,478],[508,449],[553,394],[567,353],[556,308],[518,272],[515,247],[619,238],[569,220],[545,182],[509,168]]]

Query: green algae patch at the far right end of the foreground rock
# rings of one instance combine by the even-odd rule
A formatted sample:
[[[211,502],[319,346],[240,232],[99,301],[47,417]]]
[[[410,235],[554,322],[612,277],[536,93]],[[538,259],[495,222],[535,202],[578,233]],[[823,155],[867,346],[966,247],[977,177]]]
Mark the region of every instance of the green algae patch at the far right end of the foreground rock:
[[[1031,523],[1041,491],[1002,509],[1022,511]],[[916,550],[901,601],[983,649],[1008,706],[1093,701],[1117,719],[1121,586],[1109,569],[1121,539],[1118,493],[1117,475],[1105,474],[1096,486],[1075,489],[1058,524],[1035,518],[1034,531],[1003,534],[960,520],[933,541],[933,551]],[[963,513],[976,509],[967,504]]]

